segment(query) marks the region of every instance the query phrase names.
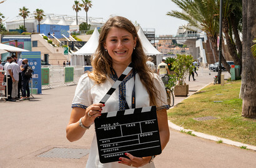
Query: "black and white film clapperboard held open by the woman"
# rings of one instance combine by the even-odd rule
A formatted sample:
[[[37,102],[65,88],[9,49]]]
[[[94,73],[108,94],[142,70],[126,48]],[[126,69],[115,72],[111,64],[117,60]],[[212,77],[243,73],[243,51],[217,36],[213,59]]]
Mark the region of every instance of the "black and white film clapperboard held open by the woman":
[[[130,70],[131,63],[101,103],[106,103]],[[136,157],[162,152],[155,106],[102,113],[94,123],[101,163],[119,161],[119,157],[126,157],[126,152]]]

